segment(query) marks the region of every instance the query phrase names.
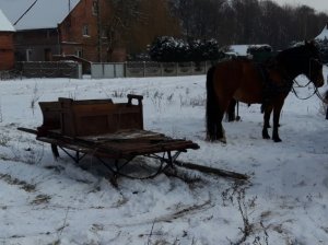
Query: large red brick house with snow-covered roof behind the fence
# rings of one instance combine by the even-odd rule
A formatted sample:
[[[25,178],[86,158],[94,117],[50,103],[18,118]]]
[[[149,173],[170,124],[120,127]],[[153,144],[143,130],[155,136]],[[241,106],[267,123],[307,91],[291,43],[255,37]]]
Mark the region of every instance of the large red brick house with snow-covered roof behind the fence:
[[[106,0],[0,0],[0,9],[14,24],[17,61],[51,61],[71,56],[87,61],[107,61],[106,37],[101,15],[109,14]],[[30,7],[30,11],[24,13]],[[101,11],[99,11],[101,10]],[[19,20],[19,21],[17,21]],[[114,57],[125,60],[125,51]]]

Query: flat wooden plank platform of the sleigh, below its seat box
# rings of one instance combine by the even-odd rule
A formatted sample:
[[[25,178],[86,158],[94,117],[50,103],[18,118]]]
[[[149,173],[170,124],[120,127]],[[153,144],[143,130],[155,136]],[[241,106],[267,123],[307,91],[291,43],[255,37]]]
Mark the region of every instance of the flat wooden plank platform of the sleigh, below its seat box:
[[[133,130],[130,130],[133,135]],[[128,132],[125,132],[128,133]],[[115,135],[115,133],[114,133]],[[119,133],[116,133],[118,136]],[[199,145],[192,141],[172,139],[162,133],[145,130],[137,130],[134,138],[101,138],[79,137],[72,138],[58,133],[56,130],[49,131],[48,137],[39,137],[37,140],[58,144],[70,150],[83,153],[93,152],[94,154],[108,154],[115,158],[129,158],[167,151],[185,151],[187,149],[199,149]],[[142,137],[143,136],[143,137]]]

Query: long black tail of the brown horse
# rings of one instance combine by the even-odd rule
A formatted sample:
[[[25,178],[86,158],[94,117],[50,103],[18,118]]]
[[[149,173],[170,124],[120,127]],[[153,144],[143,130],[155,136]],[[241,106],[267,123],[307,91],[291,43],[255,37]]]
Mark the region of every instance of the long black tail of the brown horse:
[[[213,86],[213,74],[215,67],[211,67],[207,73],[207,139],[214,140],[216,135],[218,105]]]

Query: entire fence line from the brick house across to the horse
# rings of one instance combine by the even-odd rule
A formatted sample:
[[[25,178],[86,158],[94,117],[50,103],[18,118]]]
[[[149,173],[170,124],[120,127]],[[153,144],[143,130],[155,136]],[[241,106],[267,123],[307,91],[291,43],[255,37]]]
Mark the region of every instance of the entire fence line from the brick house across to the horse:
[[[92,63],[92,79],[174,77],[204,74],[212,62],[118,62]],[[17,70],[26,78],[82,78],[82,66],[72,61],[19,62]]]

